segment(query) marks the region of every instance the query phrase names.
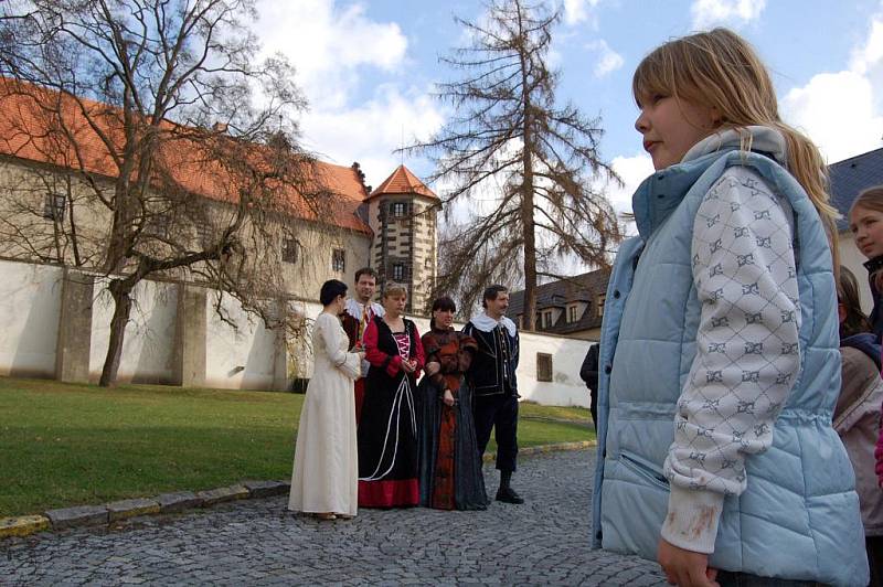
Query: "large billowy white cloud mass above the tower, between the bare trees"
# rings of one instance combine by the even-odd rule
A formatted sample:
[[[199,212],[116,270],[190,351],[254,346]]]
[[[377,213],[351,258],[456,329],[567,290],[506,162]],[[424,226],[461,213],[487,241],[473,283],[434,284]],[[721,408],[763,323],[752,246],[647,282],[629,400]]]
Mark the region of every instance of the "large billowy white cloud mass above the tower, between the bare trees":
[[[355,103],[376,72],[406,77],[408,42],[396,22],[372,19],[362,2],[258,0],[257,9],[265,53],[283,53],[296,67],[309,100],[302,140],[323,160],[359,161],[376,186],[401,162],[393,150],[440,127],[444,117],[429,92],[407,82],[380,85],[372,98]]]

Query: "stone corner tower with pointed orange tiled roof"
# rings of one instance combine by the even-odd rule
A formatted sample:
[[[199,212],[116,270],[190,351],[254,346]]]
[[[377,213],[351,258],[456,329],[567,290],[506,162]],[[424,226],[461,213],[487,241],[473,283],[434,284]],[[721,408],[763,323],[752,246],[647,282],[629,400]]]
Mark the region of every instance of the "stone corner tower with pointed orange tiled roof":
[[[442,201],[405,166],[368,198],[369,225],[374,232],[371,266],[380,282],[407,288],[407,311],[427,314],[436,279],[436,214]]]

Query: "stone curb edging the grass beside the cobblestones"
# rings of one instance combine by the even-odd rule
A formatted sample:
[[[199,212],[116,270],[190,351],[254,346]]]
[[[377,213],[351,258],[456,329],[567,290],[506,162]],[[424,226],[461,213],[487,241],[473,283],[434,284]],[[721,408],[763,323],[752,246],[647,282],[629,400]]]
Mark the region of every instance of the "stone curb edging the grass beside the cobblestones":
[[[579,442],[561,442],[525,447],[519,455],[541,455],[558,450],[582,450],[595,446],[594,440]],[[485,462],[492,462],[496,452],[485,455]],[[43,515],[21,515],[0,517],[0,540],[12,536],[26,536],[46,530],[63,530],[95,524],[110,524],[115,521],[137,515],[155,515],[158,513],[175,513],[195,508],[210,508],[215,503],[241,499],[259,499],[287,493],[291,484],[288,481],[248,480],[230,487],[205,491],[177,491],[162,493],[155,498],[130,499],[106,503],[103,505],[78,505],[47,510]]]

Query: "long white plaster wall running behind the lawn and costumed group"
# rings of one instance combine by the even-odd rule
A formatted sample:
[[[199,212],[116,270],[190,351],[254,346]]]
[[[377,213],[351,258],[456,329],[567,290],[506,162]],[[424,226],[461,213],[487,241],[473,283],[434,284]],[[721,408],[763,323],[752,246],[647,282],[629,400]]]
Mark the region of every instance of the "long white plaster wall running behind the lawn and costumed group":
[[[25,263],[0,262],[0,375],[53,376],[55,344],[61,313],[62,270]],[[126,327],[119,381],[169,382],[172,375],[177,286],[142,281],[135,291],[136,305]],[[321,311],[316,302],[292,302],[315,320]],[[233,298],[225,296],[224,310],[237,329],[214,311],[209,294],[206,320],[205,384],[221,388],[270,388],[274,384],[276,333],[257,318],[248,318]],[[91,377],[97,380],[107,354],[113,301],[96,284],[93,307]],[[429,328],[427,318],[414,318],[417,330]],[[458,330],[462,323],[455,324]],[[307,338],[311,338],[308,329]],[[579,378],[579,366],[589,341],[521,334],[519,392],[524,399],[544,405],[588,406],[588,393]],[[553,381],[536,382],[536,353],[552,355]],[[290,360],[290,359],[289,359]],[[312,374],[309,345],[300,360],[305,376]]]

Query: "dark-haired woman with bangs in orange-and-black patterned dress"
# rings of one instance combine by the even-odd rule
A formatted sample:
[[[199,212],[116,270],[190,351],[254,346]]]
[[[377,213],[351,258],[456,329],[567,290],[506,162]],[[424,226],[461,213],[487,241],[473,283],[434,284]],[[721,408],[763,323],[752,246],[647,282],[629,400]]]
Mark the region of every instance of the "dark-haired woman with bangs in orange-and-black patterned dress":
[[[476,446],[472,389],[464,378],[477,344],[454,330],[455,311],[450,298],[435,300],[430,330],[423,335],[427,376],[417,388],[421,505],[483,510],[488,497]]]

